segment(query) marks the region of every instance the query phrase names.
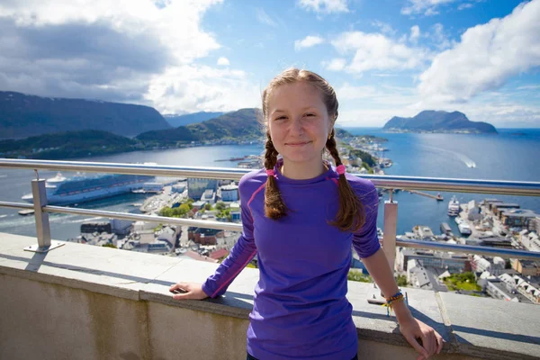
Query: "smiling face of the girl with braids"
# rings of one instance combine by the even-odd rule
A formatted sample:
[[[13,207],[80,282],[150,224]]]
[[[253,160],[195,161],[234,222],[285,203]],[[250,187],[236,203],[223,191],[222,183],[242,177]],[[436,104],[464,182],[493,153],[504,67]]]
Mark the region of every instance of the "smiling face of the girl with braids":
[[[305,81],[275,87],[267,98],[266,116],[274,147],[285,161],[320,161],[334,121],[318,88]]]

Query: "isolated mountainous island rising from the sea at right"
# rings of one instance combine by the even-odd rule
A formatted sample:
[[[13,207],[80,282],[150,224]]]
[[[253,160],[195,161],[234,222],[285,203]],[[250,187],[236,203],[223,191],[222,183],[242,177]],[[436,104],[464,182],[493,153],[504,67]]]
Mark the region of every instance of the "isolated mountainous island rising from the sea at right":
[[[497,133],[493,125],[482,121],[470,121],[463,112],[437,112],[433,110],[419,112],[412,118],[394,116],[384,124],[383,130]]]

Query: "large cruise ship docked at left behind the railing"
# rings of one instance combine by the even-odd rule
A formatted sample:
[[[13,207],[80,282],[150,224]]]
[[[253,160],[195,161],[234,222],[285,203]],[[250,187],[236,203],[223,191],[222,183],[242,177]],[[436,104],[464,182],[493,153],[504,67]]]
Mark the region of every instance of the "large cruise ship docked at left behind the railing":
[[[154,176],[149,175],[76,173],[72,177],[65,177],[58,173],[46,180],[45,190],[49,205],[71,205],[130,193],[153,179]],[[23,201],[33,202],[32,194],[25,194]]]

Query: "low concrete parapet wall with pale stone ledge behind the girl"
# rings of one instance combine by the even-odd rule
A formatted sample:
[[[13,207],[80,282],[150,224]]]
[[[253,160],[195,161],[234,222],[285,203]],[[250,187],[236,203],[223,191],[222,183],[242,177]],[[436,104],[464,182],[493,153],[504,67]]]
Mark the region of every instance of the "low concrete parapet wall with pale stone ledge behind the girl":
[[[0,359],[246,358],[257,270],[240,273],[224,297],[179,302],[169,285],[201,283],[216,265],[73,243],[46,254],[23,250],[34,242],[0,233]],[[359,357],[416,359],[395,318],[366,301],[379,290],[348,288]],[[413,315],[446,339],[433,358],[539,358],[540,325],[527,321],[536,305],[407,292]]]

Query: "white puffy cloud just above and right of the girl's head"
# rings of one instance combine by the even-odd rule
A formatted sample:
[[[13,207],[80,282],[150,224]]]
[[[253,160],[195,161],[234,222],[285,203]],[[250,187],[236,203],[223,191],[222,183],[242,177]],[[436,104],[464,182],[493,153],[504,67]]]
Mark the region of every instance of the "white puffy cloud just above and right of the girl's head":
[[[347,72],[367,70],[410,69],[419,67],[428,58],[428,50],[411,48],[381,33],[348,31],[338,35],[332,45],[342,55],[354,54]]]

